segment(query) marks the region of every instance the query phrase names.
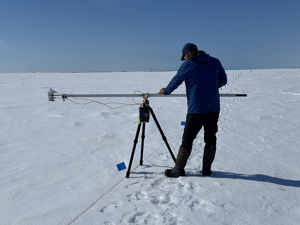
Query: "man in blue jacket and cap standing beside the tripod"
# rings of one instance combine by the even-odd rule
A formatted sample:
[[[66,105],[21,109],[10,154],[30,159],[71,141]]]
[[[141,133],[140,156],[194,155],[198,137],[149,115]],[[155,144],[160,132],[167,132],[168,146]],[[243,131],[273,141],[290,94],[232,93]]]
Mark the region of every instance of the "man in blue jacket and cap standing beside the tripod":
[[[218,131],[217,122],[220,113],[219,88],[226,85],[227,76],[217,58],[213,58],[197,46],[187,43],[182,49],[181,60],[184,61],[176,75],[160,94],[171,94],[182,82],[187,93],[187,117],[179,147],[175,167],[165,171],[168,177],[185,176],[184,167],[190,156],[193,140],[204,128],[204,152],[202,158],[202,176],[211,175],[211,164],[216,154]]]

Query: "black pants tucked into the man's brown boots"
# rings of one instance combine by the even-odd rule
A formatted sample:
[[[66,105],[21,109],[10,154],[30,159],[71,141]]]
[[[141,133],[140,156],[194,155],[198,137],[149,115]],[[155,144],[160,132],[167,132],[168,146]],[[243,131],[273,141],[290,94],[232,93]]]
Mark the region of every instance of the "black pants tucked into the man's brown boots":
[[[216,146],[219,114],[220,111],[213,113],[187,113],[181,146],[185,149],[192,149],[193,141],[202,126],[204,128],[205,144]]]

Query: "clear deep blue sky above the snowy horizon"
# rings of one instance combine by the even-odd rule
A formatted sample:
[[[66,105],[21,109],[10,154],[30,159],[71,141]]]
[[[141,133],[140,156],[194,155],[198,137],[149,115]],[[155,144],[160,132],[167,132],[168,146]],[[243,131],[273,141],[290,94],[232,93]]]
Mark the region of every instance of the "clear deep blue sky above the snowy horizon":
[[[0,73],[300,67],[300,1],[1,0]]]

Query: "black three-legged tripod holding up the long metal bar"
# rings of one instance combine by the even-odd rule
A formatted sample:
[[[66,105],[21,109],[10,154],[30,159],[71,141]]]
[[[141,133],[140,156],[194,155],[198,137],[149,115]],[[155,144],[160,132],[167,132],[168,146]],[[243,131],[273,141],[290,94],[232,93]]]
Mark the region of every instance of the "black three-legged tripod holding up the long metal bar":
[[[165,137],[163,131],[161,130],[161,126],[159,125],[155,115],[154,115],[154,112],[152,110],[152,108],[149,106],[149,101],[147,100],[148,98],[148,95],[149,94],[145,94],[144,95],[144,102],[143,104],[141,104],[141,107],[140,107],[140,123],[138,124],[137,126],[137,133],[135,135],[135,139],[134,139],[134,145],[133,145],[133,148],[132,148],[132,152],[131,152],[131,157],[130,157],[130,161],[129,161],[129,165],[128,165],[128,170],[127,170],[127,173],[126,173],[126,178],[129,178],[129,175],[130,175],[130,170],[131,170],[131,165],[132,165],[132,160],[133,160],[133,157],[134,157],[134,152],[135,152],[135,148],[137,146],[137,142],[138,142],[138,137],[139,137],[139,134],[140,134],[140,130],[141,130],[141,125],[143,124],[143,128],[142,128],[142,143],[141,143],[141,159],[140,159],[140,165],[142,166],[143,165],[143,151],[144,151],[144,140],[145,140],[145,127],[146,127],[146,123],[149,122],[149,117],[150,117],[150,113],[154,119],[154,122],[159,130],[159,132],[161,133],[161,137],[163,138],[164,142],[166,143],[166,146],[174,160],[174,163],[176,161],[176,158],[169,146],[169,143],[167,142],[167,138]]]

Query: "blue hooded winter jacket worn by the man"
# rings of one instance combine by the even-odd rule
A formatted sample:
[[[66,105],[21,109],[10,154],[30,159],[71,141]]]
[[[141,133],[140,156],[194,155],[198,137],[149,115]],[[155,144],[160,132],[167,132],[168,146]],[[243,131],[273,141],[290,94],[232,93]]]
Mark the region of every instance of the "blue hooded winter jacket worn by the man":
[[[226,85],[227,76],[217,58],[203,51],[193,52],[164,89],[171,94],[182,82],[187,93],[187,113],[220,111],[219,88]]]

